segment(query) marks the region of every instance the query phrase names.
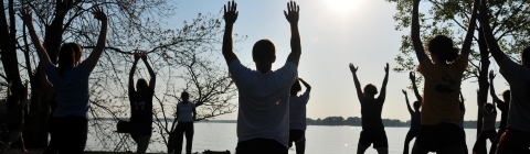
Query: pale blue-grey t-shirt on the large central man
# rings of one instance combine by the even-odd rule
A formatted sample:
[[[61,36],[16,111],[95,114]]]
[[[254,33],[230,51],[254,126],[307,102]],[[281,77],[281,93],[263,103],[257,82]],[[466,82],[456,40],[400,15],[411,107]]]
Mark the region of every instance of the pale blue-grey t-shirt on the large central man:
[[[277,69],[262,74],[241,64],[229,65],[237,86],[237,141],[256,138],[273,139],[288,146],[289,90],[297,76],[297,66],[287,62]]]

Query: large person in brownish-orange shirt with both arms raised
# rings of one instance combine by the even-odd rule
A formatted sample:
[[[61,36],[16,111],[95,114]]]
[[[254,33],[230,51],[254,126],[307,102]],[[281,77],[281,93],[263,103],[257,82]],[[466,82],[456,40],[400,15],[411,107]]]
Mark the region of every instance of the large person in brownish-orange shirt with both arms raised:
[[[460,82],[467,68],[469,51],[476,30],[476,12],[479,0],[475,0],[470,11],[469,26],[462,50],[454,47],[453,40],[445,35],[432,37],[426,46],[420,36],[421,0],[414,0],[411,37],[420,65],[417,70],[425,78],[422,102],[422,129],[416,136],[413,154],[428,152],[467,153],[465,132],[459,127]],[[431,58],[425,53],[426,48]]]

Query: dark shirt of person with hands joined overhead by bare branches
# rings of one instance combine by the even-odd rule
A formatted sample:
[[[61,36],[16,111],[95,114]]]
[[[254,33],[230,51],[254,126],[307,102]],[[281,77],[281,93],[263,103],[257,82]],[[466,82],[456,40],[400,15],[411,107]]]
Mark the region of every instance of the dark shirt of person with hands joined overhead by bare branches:
[[[155,91],[147,88],[147,91],[141,94],[137,91],[129,92],[130,98],[130,122],[144,123],[152,122],[152,97]]]

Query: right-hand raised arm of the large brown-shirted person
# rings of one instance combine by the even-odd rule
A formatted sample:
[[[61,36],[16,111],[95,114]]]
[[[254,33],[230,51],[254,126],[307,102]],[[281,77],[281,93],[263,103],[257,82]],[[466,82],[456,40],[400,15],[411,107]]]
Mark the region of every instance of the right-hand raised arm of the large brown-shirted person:
[[[480,0],[475,0],[473,2],[471,18],[469,18],[469,25],[467,26],[466,38],[464,44],[462,44],[460,56],[469,56],[469,51],[471,50],[473,36],[475,34],[475,28],[477,26],[477,10],[479,8]]]

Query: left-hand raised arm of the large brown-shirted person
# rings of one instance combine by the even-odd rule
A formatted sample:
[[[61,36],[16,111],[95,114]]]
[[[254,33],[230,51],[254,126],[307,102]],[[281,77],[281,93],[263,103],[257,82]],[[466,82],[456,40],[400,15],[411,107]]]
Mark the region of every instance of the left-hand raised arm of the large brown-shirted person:
[[[423,58],[427,57],[425,54],[422,38],[420,37],[420,0],[414,0],[414,6],[412,8],[412,25],[411,25],[411,38],[414,45],[414,51],[416,52],[416,57],[418,62],[422,62]]]

